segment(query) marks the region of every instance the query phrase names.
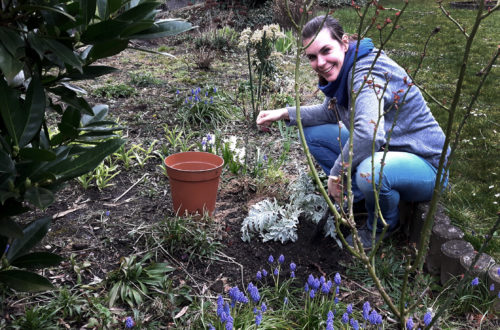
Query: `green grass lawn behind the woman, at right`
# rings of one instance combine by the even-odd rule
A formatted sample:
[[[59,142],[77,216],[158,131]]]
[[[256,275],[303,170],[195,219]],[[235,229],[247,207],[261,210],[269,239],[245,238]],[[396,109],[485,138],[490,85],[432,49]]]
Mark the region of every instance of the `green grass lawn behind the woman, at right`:
[[[475,11],[451,9],[443,1],[451,16],[468,32],[472,28]],[[403,1],[380,1],[385,8],[402,8]],[[395,11],[380,11],[380,19],[394,20]],[[346,32],[357,31],[358,19],[351,8],[337,10],[335,16],[341,21]],[[369,16],[371,17],[371,16]],[[439,27],[427,48],[427,54],[416,78],[428,93],[438,101],[449,105],[455,91],[458,71],[462,63],[465,36],[457,26],[441,12],[434,0],[410,1],[398,23],[400,28],[393,34],[385,47],[386,53],[403,67],[413,70],[417,67],[423,45],[430,33]],[[388,30],[388,29],[385,29]],[[483,68],[495,52],[500,40],[500,20],[498,13],[486,18],[474,40],[469,67],[459,103],[460,112],[456,116],[454,130],[463,117],[464,108],[469,104],[476,90],[480,76],[476,73]],[[375,44],[380,44],[378,30],[372,29],[368,36]],[[497,61],[498,63],[498,61]],[[482,88],[468,119],[450,168],[450,190],[444,196],[444,204],[452,219],[465,233],[466,239],[476,249],[481,245],[497,218],[500,193],[499,134],[500,106],[498,82],[500,70],[496,64]],[[434,116],[444,128],[447,112],[426,97]],[[455,136],[455,133],[453,133]],[[500,239],[498,232],[487,248],[487,253],[500,260]]]

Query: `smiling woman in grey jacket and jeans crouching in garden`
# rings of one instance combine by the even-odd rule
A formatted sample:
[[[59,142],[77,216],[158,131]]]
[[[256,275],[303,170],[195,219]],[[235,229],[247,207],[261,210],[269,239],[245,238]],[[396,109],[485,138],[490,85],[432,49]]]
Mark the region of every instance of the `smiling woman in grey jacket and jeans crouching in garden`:
[[[345,182],[341,180],[345,170],[342,164],[349,159],[346,125],[348,128],[350,123],[350,87],[357,41],[344,33],[336,19],[325,20],[324,16],[309,21],[302,37],[304,46],[310,43],[305,53],[319,76],[319,89],[325,94],[322,104],[300,108],[304,134],[311,154],[328,175],[329,195],[342,205],[346,193],[341,184]],[[365,249],[372,245],[375,218],[372,157],[376,186],[381,180],[380,211],[389,225],[386,235],[390,235],[398,229],[400,200],[423,202],[432,198],[445,139],[420,90],[412,86],[405,70],[383,52],[376,58],[377,52],[370,39],[360,41],[352,85],[355,92],[362,88],[353,107],[352,192],[355,203],[364,199],[368,212],[366,225],[358,230]],[[261,111],[257,124],[266,126],[285,120],[288,125],[295,125],[295,111],[295,107]],[[389,151],[380,178],[385,148]],[[382,229],[378,220],[376,239]],[[346,240],[353,245],[352,235]]]

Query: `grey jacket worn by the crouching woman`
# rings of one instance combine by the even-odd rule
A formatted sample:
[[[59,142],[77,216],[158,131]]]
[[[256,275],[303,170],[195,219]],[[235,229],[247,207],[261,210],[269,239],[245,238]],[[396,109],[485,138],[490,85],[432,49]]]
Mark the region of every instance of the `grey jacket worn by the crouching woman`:
[[[443,130],[432,116],[420,90],[411,84],[405,70],[396,62],[382,52],[370,72],[377,52],[374,49],[359,59],[348,75],[348,86],[351,86],[354,69],[353,91],[362,88],[354,106],[353,168],[371,156],[374,138],[376,151],[388,145],[389,151],[416,154],[437,168],[445,140]],[[349,129],[350,106],[347,109],[332,106],[335,100],[331,101],[330,97],[325,97],[323,104],[300,107],[303,126],[338,123],[340,120]],[[287,109],[290,118],[287,124],[296,125],[295,107]],[[347,161],[348,152],[349,144],[346,143],[330,175],[340,174],[341,159]]]

